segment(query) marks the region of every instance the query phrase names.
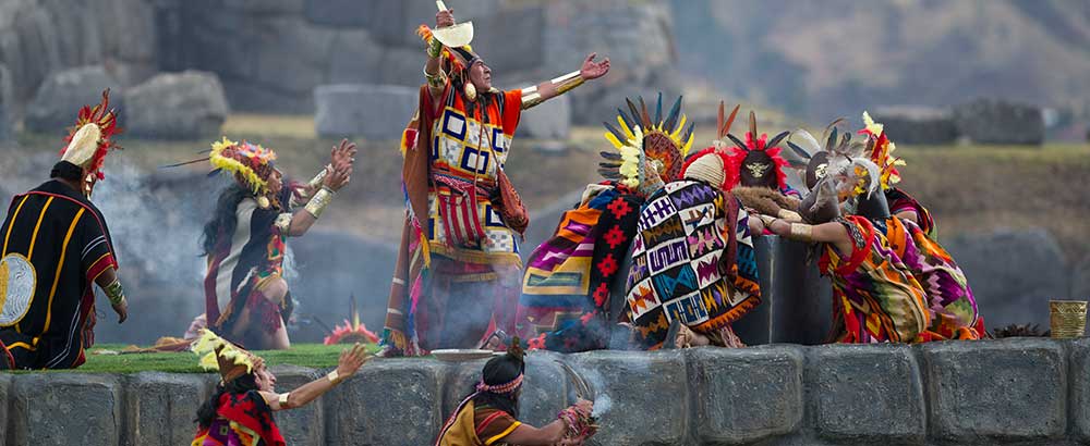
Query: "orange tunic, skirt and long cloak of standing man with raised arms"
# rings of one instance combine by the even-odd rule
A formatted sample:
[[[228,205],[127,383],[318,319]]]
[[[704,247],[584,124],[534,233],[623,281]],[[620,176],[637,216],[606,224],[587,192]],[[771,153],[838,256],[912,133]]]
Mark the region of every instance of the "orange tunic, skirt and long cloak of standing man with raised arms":
[[[438,325],[451,309],[433,298],[436,290],[465,295],[461,288],[477,283],[506,294],[506,286],[492,284],[522,267],[516,233],[492,202],[521,117],[522,91],[481,94],[471,111],[448,80],[439,101],[427,86],[419,100],[401,140],[405,221],[382,340],[410,356],[436,348],[422,333],[444,330]],[[492,319],[495,327],[513,330],[517,293],[455,305],[472,313],[461,319]]]

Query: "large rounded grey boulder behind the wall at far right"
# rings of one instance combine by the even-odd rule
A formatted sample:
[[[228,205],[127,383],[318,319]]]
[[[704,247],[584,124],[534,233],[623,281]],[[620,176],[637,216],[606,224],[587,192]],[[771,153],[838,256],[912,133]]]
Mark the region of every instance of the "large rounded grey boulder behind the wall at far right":
[[[965,271],[991,327],[1049,326],[1049,299],[1069,292],[1064,252],[1045,230],[959,235],[944,246]]]

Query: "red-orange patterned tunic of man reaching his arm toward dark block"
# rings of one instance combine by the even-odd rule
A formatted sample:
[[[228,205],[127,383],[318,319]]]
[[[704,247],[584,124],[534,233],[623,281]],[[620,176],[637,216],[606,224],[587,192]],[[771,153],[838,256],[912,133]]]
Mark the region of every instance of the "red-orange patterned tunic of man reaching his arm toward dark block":
[[[899,222],[899,220],[894,219]],[[869,220],[840,220],[852,237],[847,256],[824,246],[821,271],[833,278],[833,330],[843,343],[918,340],[931,323],[928,295],[897,253],[897,247]]]

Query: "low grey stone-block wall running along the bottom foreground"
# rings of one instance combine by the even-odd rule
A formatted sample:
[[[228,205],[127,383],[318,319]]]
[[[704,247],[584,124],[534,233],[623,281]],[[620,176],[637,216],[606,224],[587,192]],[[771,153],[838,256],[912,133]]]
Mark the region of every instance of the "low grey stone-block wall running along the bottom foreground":
[[[1075,445],[1090,441],[1090,339],[772,345],[529,356],[521,419],[594,387],[598,445]],[[290,445],[429,444],[483,360],[374,360],[277,414]],[[275,368],[280,389],[325,371]],[[178,445],[213,374],[0,374],[0,445]],[[606,406],[609,406],[606,408]],[[7,439],[7,443],[4,443]]]

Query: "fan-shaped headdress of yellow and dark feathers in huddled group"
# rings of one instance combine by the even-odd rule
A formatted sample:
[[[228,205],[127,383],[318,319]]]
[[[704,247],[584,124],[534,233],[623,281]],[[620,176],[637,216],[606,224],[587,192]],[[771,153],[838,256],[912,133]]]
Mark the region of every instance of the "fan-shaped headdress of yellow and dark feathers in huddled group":
[[[686,125],[681,113],[681,97],[674,101],[666,117],[663,117],[663,94],[658,94],[655,119],[651,119],[647,104],[639,98],[638,108],[630,99],[625,99],[629,113],[617,109],[615,127],[604,122],[605,137],[619,153],[602,151],[605,161],[598,163],[598,173],[607,179],[619,179],[629,187],[638,187],[644,174],[640,166],[646,162],[654,166],[664,183],[680,178],[685,157],[692,147],[693,123]]]

